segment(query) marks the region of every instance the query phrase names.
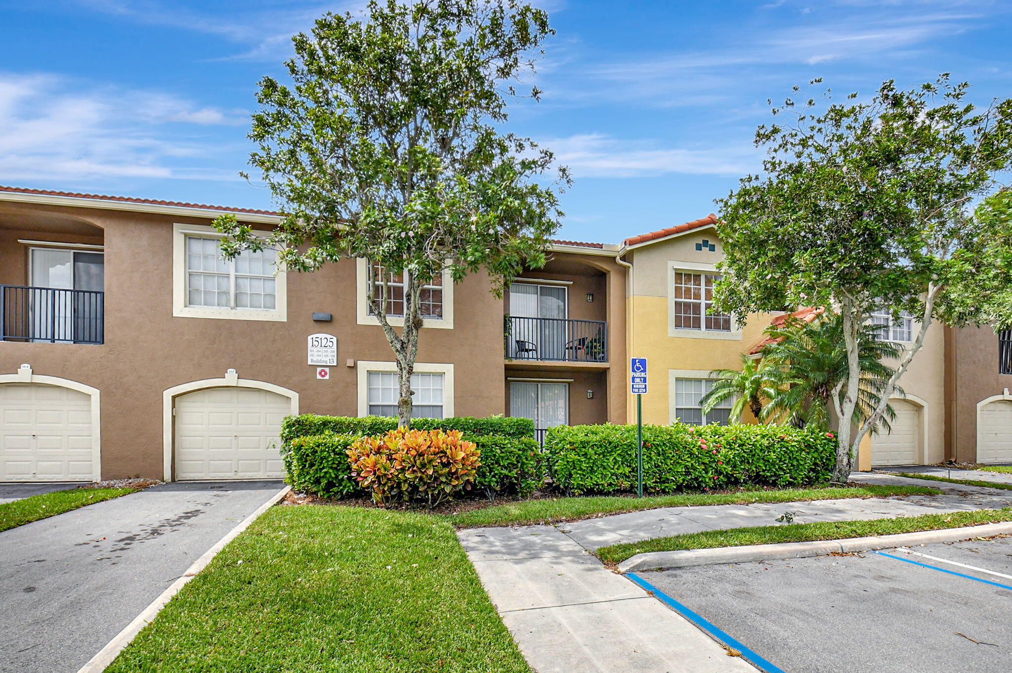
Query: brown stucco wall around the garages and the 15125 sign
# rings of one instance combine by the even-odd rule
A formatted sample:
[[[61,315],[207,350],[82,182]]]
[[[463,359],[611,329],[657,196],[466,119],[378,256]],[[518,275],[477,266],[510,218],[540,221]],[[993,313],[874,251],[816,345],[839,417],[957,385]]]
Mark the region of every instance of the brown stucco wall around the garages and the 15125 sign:
[[[205,219],[3,203],[0,273],[8,282],[24,281],[24,246],[12,241],[45,238],[13,228],[39,212],[57,220],[73,215],[104,230],[105,343],[0,342],[0,373],[29,363],[35,374],[101,391],[103,478],[162,476],[166,389],[222,377],[232,367],[242,378],[298,392],[302,412],[354,416],[356,369],[345,361],[394,359],[380,327],[356,324],[351,260],[313,274],[289,273],[287,322],[174,318],[172,224],[209,224]],[[71,240],[67,234],[49,238]],[[505,410],[502,303],[490,289],[486,275],[469,276],[454,288],[454,329],[421,335],[419,362],[455,364],[456,415]],[[334,322],[314,323],[313,312],[331,313]],[[316,332],[338,339],[339,364],[330,381],[318,381],[306,363],[306,337]]]

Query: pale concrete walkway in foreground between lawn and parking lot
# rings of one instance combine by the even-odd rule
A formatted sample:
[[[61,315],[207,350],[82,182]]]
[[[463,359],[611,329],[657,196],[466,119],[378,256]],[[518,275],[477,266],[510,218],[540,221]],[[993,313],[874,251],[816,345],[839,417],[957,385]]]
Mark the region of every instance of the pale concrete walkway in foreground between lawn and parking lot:
[[[755,673],[553,526],[457,533],[538,673]]]

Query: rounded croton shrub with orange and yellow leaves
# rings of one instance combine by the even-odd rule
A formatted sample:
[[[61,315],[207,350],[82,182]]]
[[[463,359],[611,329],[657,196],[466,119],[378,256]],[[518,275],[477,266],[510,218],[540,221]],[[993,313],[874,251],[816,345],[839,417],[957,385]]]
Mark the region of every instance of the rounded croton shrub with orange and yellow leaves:
[[[481,451],[459,430],[391,430],[360,437],[347,451],[351,475],[381,505],[424,502],[429,509],[471,489]]]

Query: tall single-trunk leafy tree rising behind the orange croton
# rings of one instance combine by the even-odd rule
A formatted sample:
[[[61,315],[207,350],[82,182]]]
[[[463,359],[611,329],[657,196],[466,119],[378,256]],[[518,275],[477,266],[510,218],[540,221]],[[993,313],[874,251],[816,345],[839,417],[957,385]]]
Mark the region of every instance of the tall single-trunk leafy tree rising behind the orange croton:
[[[366,301],[397,361],[403,426],[423,286],[484,269],[501,292],[524,264],[543,264],[559,228],[566,170],[502,129],[512,100],[538,98],[518,87],[553,32],[544,11],[516,0],[373,0],[294,36],[289,84],[260,81],[251,164],[283,222],[260,238],[221,218],[223,251],[272,246],[293,271],[344,258],[382,269]]]

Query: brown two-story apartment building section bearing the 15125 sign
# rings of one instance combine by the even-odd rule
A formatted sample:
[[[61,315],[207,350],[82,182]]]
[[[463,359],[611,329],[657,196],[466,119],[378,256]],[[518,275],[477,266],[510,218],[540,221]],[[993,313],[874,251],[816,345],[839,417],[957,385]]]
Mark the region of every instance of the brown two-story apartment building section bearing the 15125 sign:
[[[364,297],[377,282],[396,298],[399,279],[365,260],[310,274],[275,269],[270,251],[223,261],[210,227],[223,212],[278,221],[0,189],[0,482],[278,477],[284,416],[396,410],[394,358]],[[433,281],[416,414],[624,422],[615,250],[559,242],[503,300],[482,274]],[[308,357],[319,334],[336,342],[327,366]]]

